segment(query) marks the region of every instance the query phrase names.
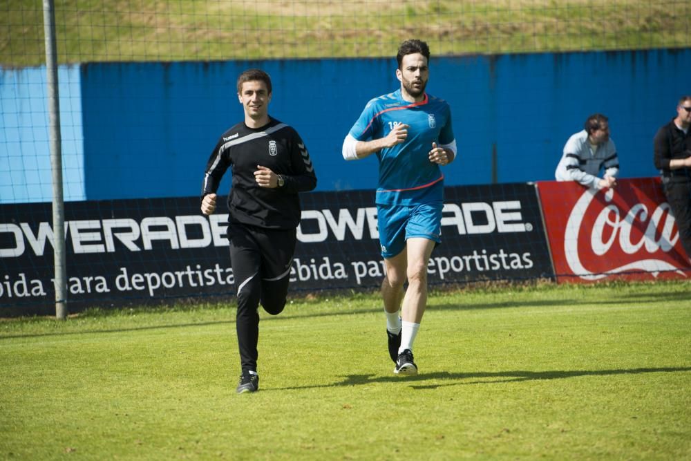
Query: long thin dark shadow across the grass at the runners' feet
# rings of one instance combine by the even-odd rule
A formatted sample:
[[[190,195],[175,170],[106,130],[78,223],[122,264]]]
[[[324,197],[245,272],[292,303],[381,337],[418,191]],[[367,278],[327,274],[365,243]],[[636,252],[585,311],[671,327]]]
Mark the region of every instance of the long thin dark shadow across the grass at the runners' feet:
[[[377,376],[377,375],[348,375],[343,377],[343,381],[333,384],[320,384],[316,386],[294,386],[283,388],[269,388],[267,391],[287,391],[310,388],[329,388],[339,386],[362,386],[367,384],[380,383],[401,383],[407,384],[413,389],[436,389],[446,386],[467,386],[470,384],[500,384],[515,383],[524,381],[547,381],[549,379],[566,379],[581,376],[614,376],[614,375],[641,375],[643,373],[677,373],[689,372],[691,367],[668,367],[668,368],[630,368],[621,370],[573,370],[573,371],[498,371],[498,372],[475,372],[475,373],[449,373],[440,371],[435,373],[425,373],[417,376]]]

